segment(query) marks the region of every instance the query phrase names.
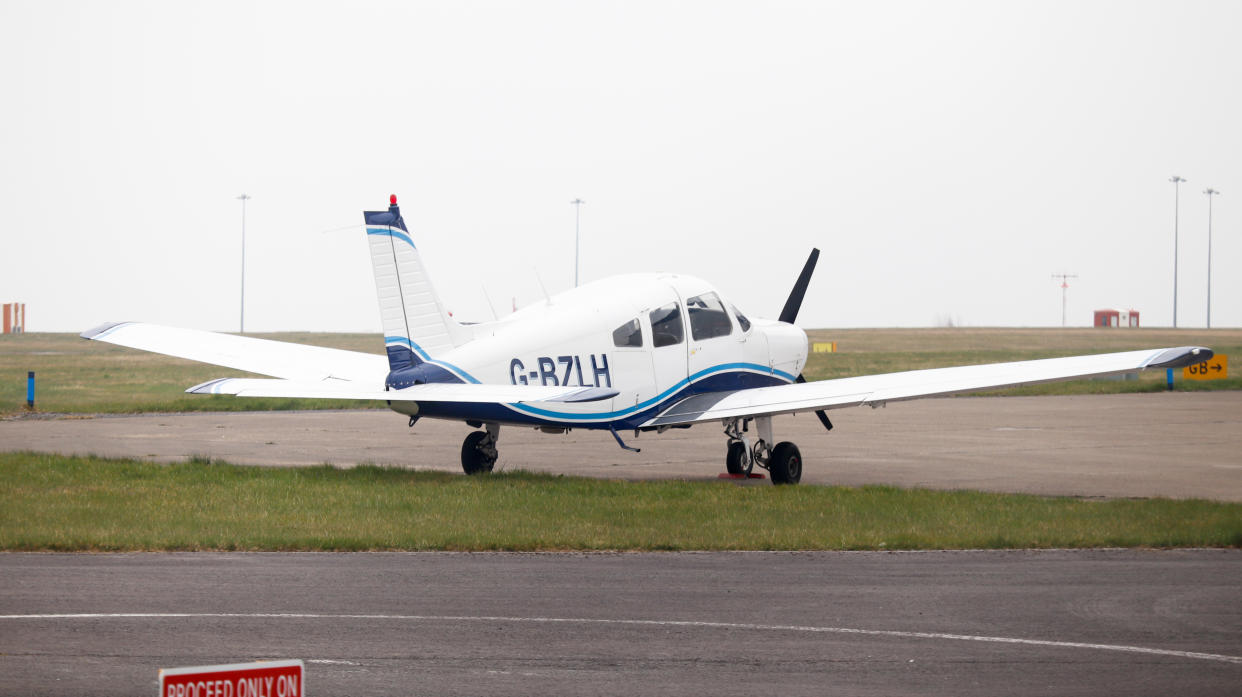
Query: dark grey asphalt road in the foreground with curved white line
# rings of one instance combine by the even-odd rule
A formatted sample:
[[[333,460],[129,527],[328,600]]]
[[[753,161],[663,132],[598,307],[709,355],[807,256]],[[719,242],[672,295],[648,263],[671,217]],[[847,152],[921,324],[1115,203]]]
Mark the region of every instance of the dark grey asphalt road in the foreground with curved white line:
[[[0,554],[0,693],[1237,695],[1242,552]],[[179,616],[180,615],[180,616]]]

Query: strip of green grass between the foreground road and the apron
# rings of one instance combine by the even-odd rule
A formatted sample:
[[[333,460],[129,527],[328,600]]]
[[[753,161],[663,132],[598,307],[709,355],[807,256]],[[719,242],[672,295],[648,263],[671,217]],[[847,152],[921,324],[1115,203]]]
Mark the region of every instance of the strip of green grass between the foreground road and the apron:
[[[0,453],[5,550],[1238,547],[1242,504]]]

